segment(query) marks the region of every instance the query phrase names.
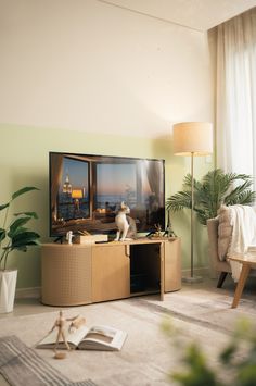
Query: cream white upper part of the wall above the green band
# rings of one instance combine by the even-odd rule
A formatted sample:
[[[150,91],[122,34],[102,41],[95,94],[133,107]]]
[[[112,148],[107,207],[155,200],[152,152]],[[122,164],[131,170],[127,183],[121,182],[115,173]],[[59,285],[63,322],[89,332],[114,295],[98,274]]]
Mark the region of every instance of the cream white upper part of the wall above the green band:
[[[0,123],[169,136],[212,121],[207,35],[98,0],[0,0]]]

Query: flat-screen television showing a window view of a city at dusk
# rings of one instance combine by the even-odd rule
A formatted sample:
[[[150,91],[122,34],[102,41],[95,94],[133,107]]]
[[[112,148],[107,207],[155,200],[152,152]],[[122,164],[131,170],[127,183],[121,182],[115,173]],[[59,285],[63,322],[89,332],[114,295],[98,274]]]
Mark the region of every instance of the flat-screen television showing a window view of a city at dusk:
[[[49,153],[50,236],[115,234],[124,201],[138,233],[165,227],[165,161]]]

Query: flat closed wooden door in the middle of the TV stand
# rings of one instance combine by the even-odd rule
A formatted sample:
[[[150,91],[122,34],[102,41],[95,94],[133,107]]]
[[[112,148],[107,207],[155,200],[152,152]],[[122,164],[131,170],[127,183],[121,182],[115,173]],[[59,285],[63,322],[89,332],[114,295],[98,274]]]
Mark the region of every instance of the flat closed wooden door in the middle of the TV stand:
[[[92,247],[92,302],[130,296],[130,259],[125,245]]]

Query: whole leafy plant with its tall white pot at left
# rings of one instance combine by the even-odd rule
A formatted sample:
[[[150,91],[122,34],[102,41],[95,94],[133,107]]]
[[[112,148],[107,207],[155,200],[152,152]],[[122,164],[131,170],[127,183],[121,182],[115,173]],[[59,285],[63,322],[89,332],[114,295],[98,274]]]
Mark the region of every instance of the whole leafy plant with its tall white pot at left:
[[[0,313],[11,312],[14,303],[17,270],[7,269],[10,253],[14,250],[26,252],[29,246],[39,245],[40,236],[25,226],[31,219],[38,219],[35,212],[13,213],[12,220],[9,220],[12,202],[30,190],[38,189],[24,187],[15,191],[9,202],[0,204],[3,214],[3,223],[0,227]]]

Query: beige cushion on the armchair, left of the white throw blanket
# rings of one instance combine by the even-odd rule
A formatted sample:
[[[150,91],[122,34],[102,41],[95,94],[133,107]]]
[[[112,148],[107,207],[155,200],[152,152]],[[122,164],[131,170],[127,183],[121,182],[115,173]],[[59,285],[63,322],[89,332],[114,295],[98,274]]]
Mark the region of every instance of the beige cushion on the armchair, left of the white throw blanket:
[[[230,225],[230,209],[227,206],[220,206],[218,211],[218,257],[219,260],[226,260],[230,246],[233,227]]]

